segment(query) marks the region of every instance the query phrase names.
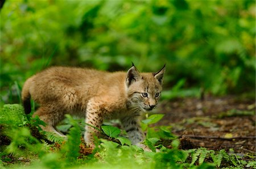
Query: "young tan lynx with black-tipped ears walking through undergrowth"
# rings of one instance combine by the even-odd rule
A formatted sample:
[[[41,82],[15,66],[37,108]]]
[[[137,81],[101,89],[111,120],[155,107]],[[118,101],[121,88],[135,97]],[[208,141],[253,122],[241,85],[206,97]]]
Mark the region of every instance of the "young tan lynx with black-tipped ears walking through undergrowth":
[[[22,100],[26,113],[31,112],[30,98],[39,103],[34,113],[55,132],[55,125],[69,113],[85,117],[85,122],[100,128],[104,119],[120,119],[133,145],[142,146],[144,134],[139,125],[142,111],[158,104],[165,67],[157,73],[139,73],[133,65],[128,71],[109,73],[93,69],[51,67],[24,83]],[[84,138],[94,147],[99,131],[85,126]],[[63,136],[63,135],[62,135]]]

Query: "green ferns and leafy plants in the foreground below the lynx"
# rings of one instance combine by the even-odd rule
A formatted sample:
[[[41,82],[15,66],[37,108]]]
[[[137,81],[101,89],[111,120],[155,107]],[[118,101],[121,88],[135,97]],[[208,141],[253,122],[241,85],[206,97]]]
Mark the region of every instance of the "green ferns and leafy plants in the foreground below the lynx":
[[[59,125],[67,139],[43,132],[46,125],[38,117],[25,115],[19,104],[1,108],[1,168],[256,168],[255,154],[239,154],[233,149],[208,150],[204,147],[182,150],[171,126],[155,126],[162,114],[142,121],[147,131],[144,144],[151,151],[131,145],[126,133],[114,126],[101,127],[104,137],[96,149],[84,143],[80,120],[67,116]]]

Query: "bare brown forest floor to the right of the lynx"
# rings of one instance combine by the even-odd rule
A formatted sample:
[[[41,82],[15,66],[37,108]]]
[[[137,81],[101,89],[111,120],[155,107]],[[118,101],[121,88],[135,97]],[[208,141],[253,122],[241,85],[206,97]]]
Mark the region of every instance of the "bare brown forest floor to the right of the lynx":
[[[180,137],[181,149],[233,148],[239,153],[255,153],[255,100],[232,96],[207,97],[204,101],[184,98],[162,102],[159,113],[166,115],[155,125],[171,125]]]

